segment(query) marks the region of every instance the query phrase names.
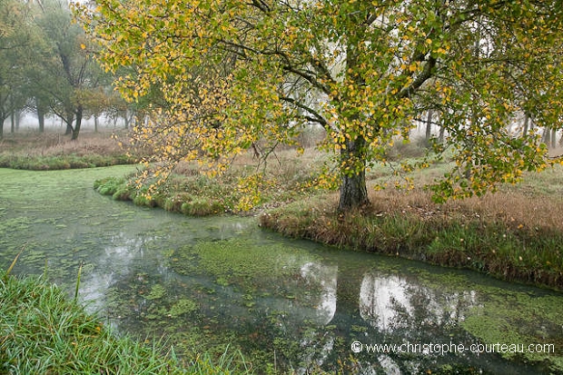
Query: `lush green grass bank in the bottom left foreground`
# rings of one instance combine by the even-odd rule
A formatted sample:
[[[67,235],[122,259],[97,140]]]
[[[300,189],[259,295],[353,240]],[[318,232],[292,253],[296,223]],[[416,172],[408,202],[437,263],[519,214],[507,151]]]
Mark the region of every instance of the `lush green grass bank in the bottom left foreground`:
[[[0,271],[0,374],[249,373],[241,358],[175,357],[112,330],[43,279]]]

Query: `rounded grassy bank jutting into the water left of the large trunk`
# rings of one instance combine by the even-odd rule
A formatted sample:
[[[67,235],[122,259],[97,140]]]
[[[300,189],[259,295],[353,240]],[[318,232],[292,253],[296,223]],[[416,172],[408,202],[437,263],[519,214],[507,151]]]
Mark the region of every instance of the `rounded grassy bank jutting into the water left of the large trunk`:
[[[215,177],[201,173],[197,163],[181,163],[150,195],[146,187],[136,188],[134,175],[96,181],[94,189],[115,200],[191,216],[256,214],[315,192],[325,157],[309,150],[297,158],[295,151],[285,150],[265,168],[256,168],[250,154],[242,155],[230,170]]]

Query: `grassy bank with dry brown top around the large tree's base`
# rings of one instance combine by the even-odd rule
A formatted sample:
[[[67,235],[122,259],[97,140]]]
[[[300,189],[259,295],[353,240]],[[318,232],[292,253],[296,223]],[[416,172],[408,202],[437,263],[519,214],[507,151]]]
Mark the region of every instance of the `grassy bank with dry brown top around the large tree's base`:
[[[291,237],[563,290],[558,198],[507,190],[436,204],[422,190],[383,191],[346,215],[334,210],[336,200],[322,194],[293,202],[263,214],[261,224]]]

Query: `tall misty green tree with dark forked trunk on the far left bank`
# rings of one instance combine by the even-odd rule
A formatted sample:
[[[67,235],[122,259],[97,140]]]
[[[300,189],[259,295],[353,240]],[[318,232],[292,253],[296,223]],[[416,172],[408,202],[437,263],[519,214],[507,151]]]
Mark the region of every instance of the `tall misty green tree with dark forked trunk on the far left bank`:
[[[39,6],[40,5],[40,6]],[[38,114],[49,110],[64,120],[67,133],[78,138],[89,104],[103,92],[104,76],[85,48],[84,29],[76,25],[68,3],[44,0],[35,6],[35,25],[43,43],[29,54],[28,75]],[[96,104],[97,105],[97,104]]]

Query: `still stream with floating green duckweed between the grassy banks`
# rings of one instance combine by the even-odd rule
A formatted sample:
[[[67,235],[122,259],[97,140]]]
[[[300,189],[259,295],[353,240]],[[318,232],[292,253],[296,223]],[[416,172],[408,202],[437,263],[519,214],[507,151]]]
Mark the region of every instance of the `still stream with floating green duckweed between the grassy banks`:
[[[94,192],[132,171],[0,169],[0,267],[24,249],[14,273],[72,294],[82,263],[81,301],[120,334],[256,373],[563,373],[561,292]]]

